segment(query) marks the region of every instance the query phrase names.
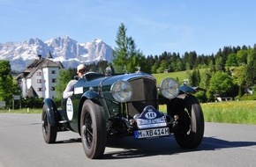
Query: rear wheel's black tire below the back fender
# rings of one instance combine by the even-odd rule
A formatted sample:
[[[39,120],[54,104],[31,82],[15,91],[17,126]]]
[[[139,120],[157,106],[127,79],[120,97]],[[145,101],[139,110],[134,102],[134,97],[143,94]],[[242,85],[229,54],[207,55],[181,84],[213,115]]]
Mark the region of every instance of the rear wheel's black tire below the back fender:
[[[56,142],[56,126],[49,125],[48,114],[47,114],[47,105],[43,105],[42,113],[41,113],[41,129],[44,142],[46,143],[54,143]]]

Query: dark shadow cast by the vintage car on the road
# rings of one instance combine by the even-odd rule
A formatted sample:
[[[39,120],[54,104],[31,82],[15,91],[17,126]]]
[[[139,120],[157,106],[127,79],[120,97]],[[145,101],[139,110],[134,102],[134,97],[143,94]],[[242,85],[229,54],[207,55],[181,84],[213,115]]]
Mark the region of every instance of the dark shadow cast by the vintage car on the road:
[[[105,153],[103,159],[134,158],[142,156],[174,155],[184,152],[206,151],[255,146],[256,142],[229,142],[215,137],[204,137],[197,149],[181,149],[174,137],[134,140],[133,137],[109,138],[107,147],[124,150]]]

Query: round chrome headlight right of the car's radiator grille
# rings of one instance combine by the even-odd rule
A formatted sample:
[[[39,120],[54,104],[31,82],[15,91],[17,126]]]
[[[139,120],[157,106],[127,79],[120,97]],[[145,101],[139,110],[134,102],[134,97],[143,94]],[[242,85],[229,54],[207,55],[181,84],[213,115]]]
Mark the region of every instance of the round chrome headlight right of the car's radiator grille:
[[[165,98],[176,98],[179,93],[179,85],[172,78],[165,78],[160,84],[160,92]]]

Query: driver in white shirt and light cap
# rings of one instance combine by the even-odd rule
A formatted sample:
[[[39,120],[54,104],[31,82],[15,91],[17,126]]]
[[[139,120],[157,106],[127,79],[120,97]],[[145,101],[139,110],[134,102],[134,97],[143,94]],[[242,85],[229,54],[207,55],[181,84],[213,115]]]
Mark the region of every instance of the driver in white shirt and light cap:
[[[86,68],[87,67],[85,66],[85,64],[79,64],[77,68],[77,74],[79,78],[81,78],[86,73]],[[79,79],[73,79],[67,84],[66,89],[63,92],[63,98],[69,98],[72,96],[74,91],[74,84],[76,84],[78,80]]]

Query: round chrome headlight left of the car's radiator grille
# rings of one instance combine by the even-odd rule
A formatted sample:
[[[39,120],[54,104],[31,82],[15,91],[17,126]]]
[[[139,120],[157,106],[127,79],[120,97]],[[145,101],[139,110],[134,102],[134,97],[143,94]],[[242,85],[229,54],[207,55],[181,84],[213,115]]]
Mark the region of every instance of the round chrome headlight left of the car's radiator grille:
[[[132,98],[132,85],[127,81],[117,81],[112,84],[110,91],[115,100],[124,103]]]

